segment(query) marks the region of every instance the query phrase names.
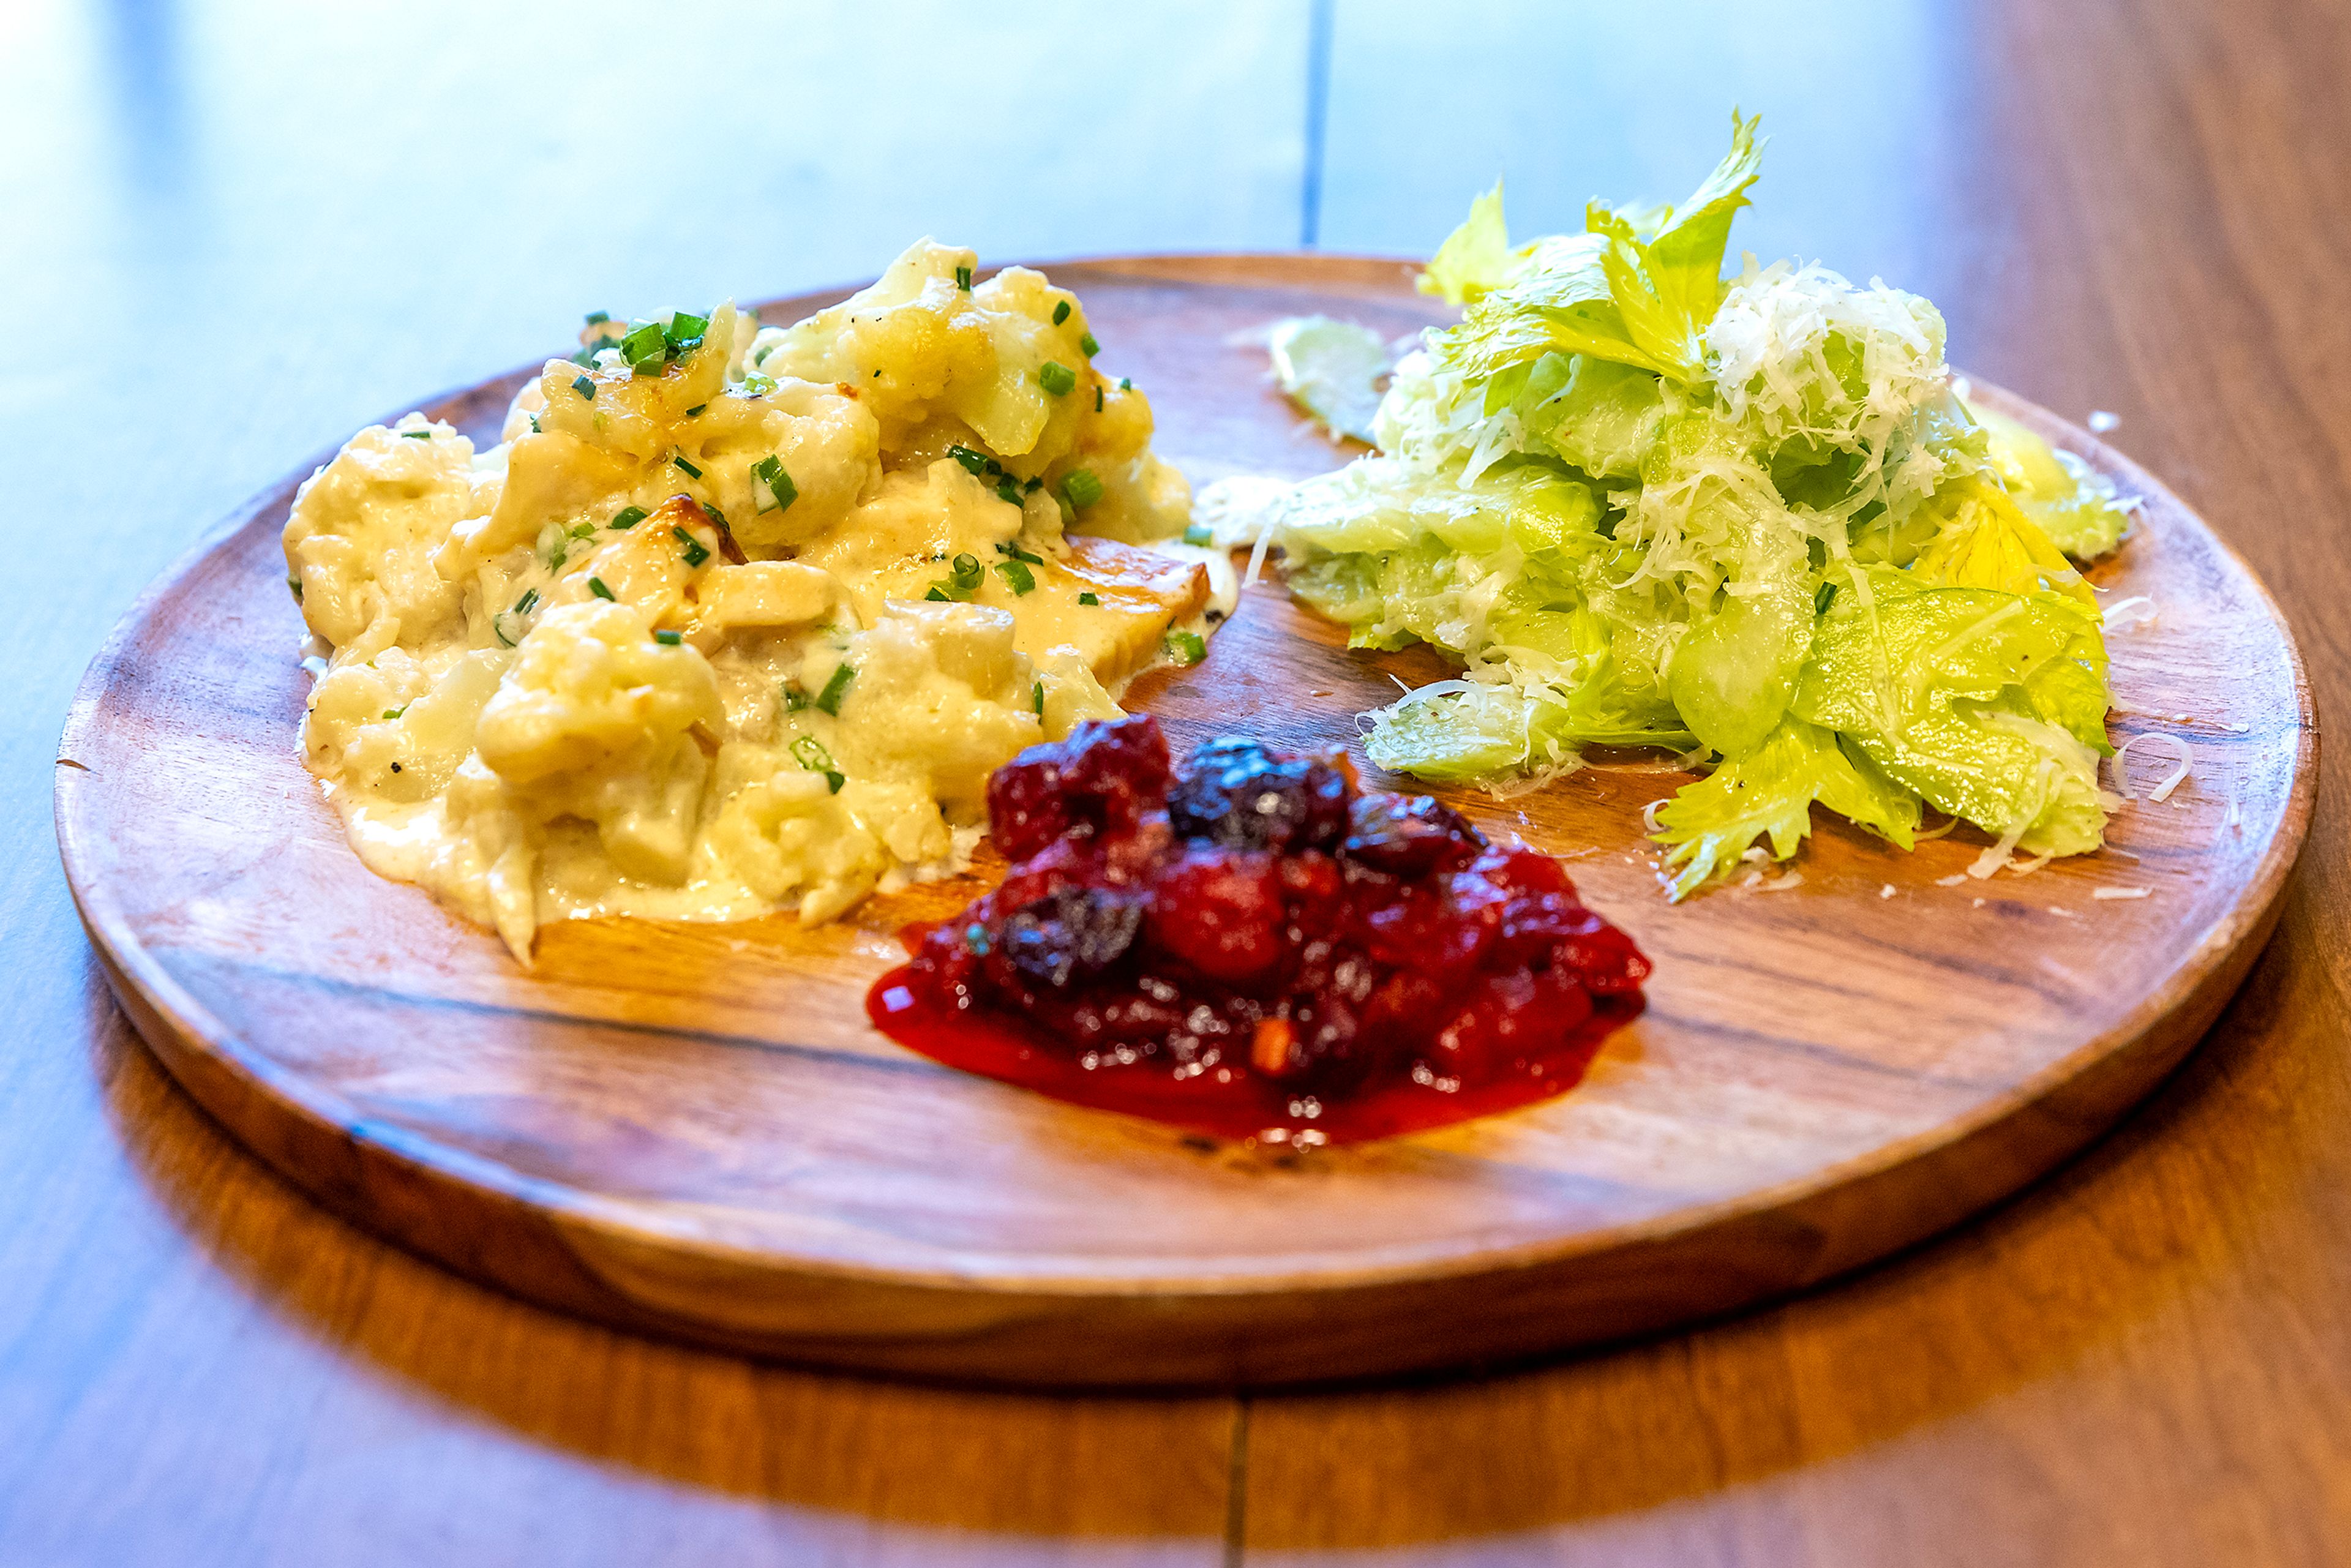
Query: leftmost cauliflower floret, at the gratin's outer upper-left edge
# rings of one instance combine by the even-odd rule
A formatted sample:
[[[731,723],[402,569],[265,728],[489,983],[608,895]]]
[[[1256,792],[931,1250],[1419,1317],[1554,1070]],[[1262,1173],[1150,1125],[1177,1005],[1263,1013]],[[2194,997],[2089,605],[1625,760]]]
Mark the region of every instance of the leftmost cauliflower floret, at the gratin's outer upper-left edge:
[[[461,592],[433,569],[449,529],[491,510],[496,475],[473,442],[409,414],[369,425],[303,480],[287,517],[287,574],[303,621],[339,649],[423,646],[461,616]],[[367,654],[362,654],[364,658]]]

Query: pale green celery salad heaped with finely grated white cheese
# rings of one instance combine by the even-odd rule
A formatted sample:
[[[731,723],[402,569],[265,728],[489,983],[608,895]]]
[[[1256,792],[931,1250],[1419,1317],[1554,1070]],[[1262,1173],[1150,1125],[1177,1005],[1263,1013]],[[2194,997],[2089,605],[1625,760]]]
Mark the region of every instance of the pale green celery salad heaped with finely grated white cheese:
[[[2135,501],[1968,407],[1916,294],[1754,256],[1726,280],[1759,158],[1733,115],[1688,202],[1592,202],[1516,247],[1500,186],[1479,197],[1420,284],[1467,310],[1394,367],[1378,454],[1201,510],[1277,545],[1349,646],[1462,663],[1366,715],[1378,766],[1495,790],[1592,745],[1707,766],[1650,811],[1672,898],[1794,856],[1813,802],[1902,849],[1923,806],[1965,818],[1996,839],[1980,875],[2092,851],[2118,799],[2076,562]]]

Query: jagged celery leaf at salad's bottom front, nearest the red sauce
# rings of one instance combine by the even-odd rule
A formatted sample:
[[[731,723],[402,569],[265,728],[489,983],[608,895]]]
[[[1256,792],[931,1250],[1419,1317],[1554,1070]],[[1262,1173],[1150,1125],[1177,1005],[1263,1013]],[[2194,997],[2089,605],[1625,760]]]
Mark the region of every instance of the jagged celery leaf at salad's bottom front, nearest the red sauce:
[[[1787,717],[1754,750],[1726,757],[1657,809],[1655,839],[1669,846],[1667,896],[1688,898],[1730,872],[1761,837],[1773,858],[1787,860],[1813,830],[1815,799],[1902,849],[1914,842],[1916,795],[1857,764],[1831,731]]]

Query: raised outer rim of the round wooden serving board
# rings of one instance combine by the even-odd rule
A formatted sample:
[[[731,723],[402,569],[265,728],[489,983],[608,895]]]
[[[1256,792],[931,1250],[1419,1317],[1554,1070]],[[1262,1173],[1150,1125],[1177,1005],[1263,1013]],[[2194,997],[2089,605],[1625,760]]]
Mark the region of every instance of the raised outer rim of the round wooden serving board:
[[[1121,277],[1159,277],[1176,284],[1265,284],[1288,282],[1305,287],[1352,287],[1366,294],[1387,294],[1408,277],[1418,263],[1389,256],[1321,256],[1321,254],[1150,254],[1150,256],[1103,256],[1037,263],[1060,273],[1100,273]],[[1279,277],[1270,273],[1279,270]],[[762,310],[811,310],[844,296],[849,289],[818,289],[781,301],[766,301]],[[538,371],[538,364],[487,378],[426,404],[428,414],[454,416],[465,407],[496,402],[503,407],[520,381]],[[1787,1291],[1829,1279],[1878,1255],[1897,1251],[1911,1241],[1944,1229],[1968,1213],[1998,1201],[2024,1182],[2041,1175],[2083,1143],[2102,1133],[2116,1117],[2137,1103],[2161,1081],[2193,1041],[2210,1027],[2219,1009],[2233,994],[2243,973],[2273,929],[2288,877],[2302,851],[2316,795],[2318,724],[2309,675],[2295,644],[2292,630],[2269,590],[2259,583],[2243,557],[2186,508],[2154,475],[2132,463],[2121,451],[2057,418],[2055,414],[1977,381],[1972,397],[2005,414],[2022,418],[2062,447],[2083,454],[2092,468],[2121,480],[2128,489],[2175,510],[2193,522],[2205,543],[2215,548],[2255,595],[2257,604],[2273,623],[2276,639],[2285,651],[2297,708],[2292,790],[2259,865],[2243,884],[2226,912],[2210,922],[2193,943],[2193,957],[2132,1006],[2116,1025],[2083,1041],[2074,1051],[2020,1079],[2003,1093],[1987,1095],[1980,1105],[1937,1126],[1871,1147],[1841,1164],[1820,1166],[1784,1182],[1759,1187],[1733,1199],[1690,1204],[1657,1218],[1603,1225],[1573,1232],[1563,1239],[1516,1241],[1505,1246],[1481,1246],[1476,1239],[1455,1244],[1413,1244],[1411,1255],[1382,1258],[1378,1262],[1342,1262],[1314,1258],[1300,1251],[1298,1267],[1274,1269],[1272,1265],[1187,1272],[1178,1288],[1143,1274],[1089,1274],[1084,1269],[1037,1269],[1023,1274],[990,1274],[985,1279],[952,1267],[891,1267],[842,1258],[797,1258],[788,1265],[773,1253],[710,1237],[705,1232],[682,1232],[665,1225],[647,1225],[644,1213],[595,1192],[550,1182],[517,1173],[498,1161],[404,1135],[397,1128],[369,1121],[341,1095],[320,1088],[296,1072],[280,1067],[249,1048],[226,1030],[179,980],[150,954],[129,929],[122,910],[106,889],[87,872],[87,856],[80,849],[80,823],[75,820],[78,771],[66,759],[78,750],[78,738],[89,726],[101,724],[101,701],[113,679],[125,668],[125,654],[139,625],[155,607],[172,597],[181,578],[193,574],[209,555],[226,548],[237,534],[282,515],[292,491],[320,463],[334,456],[336,447],[315,454],[284,480],[256,491],[237,505],[223,522],[209,529],[169,571],[165,571],[125,614],[92,661],[66,722],[61,738],[61,771],[56,783],[56,830],[68,886],[82,924],[89,931],[108,983],[148,1039],[167,1070],[235,1131],[263,1159],[362,1225],[388,1234],[430,1258],[449,1262],[461,1272],[489,1279],[555,1307],[588,1312],[623,1321],[632,1328],[672,1333],[679,1338],[715,1342],[729,1349],[778,1354],[828,1366],[851,1366],[868,1371],[893,1371],[917,1375],[947,1375],[978,1382],[1013,1385],[1072,1385],[1072,1387],[1201,1387],[1201,1385],[1260,1385],[1260,1382],[1317,1382],[1333,1378],[1361,1378],[1401,1371],[1425,1371],[1453,1366],[1472,1359],[1540,1354],[1568,1345],[1622,1338],[1627,1333],[1667,1328],[1676,1321],[1712,1316],[1716,1312],[1754,1305]],[[407,409],[402,409],[407,411]],[[259,1100],[256,1100],[259,1095]],[[273,1112],[289,1112],[294,1126],[277,1124]],[[1954,1171],[1954,1180],[1937,1180],[1942,1168],[1956,1168],[1958,1154],[1982,1140],[1994,1140],[2017,1124],[2034,1121],[2022,1138],[2012,1138],[2005,1150],[2003,1173],[1994,1180]],[[306,1159],[294,1159],[294,1145],[306,1145]],[[329,1159],[320,1161],[320,1152]],[[343,1180],[322,1180],[320,1164],[346,1171]],[[390,1178],[395,1192],[386,1185]],[[1860,1201],[1871,1182],[1907,1180],[1921,1187],[1907,1206],[1904,1222],[1881,1227],[1867,1244],[1841,1248],[1822,1215],[1841,1204]],[[409,1192],[414,1190],[414,1192]],[[907,1354],[860,1354],[858,1345],[816,1340],[809,1345],[776,1342],[759,1333],[731,1326],[703,1324],[694,1319],[649,1312],[642,1302],[595,1300],[595,1291],[581,1291],[576,1281],[548,1284],[517,1276],[498,1260],[480,1255],[451,1255],[435,1244],[435,1225],[418,1220],[409,1204],[418,1194],[451,1204],[491,1204],[517,1208],[534,1222],[555,1222],[550,1232],[557,1241],[574,1229],[600,1234],[621,1251],[656,1248],[705,1258],[722,1272],[743,1276],[790,1274],[811,1284],[842,1284],[851,1288],[875,1288],[882,1293],[950,1293],[987,1295],[1013,1302],[1018,1298],[1077,1300],[1114,1305],[1121,1298],[1150,1307],[1176,1302],[1239,1302],[1267,1293],[1305,1295],[1324,1302],[1378,1295],[1385,1291],[1415,1291],[1460,1276],[1493,1276],[1516,1281],[1516,1291],[1540,1295],[1547,1279],[1561,1269],[1573,1269],[1582,1260],[1599,1255],[1622,1255],[1639,1260],[1634,1267],[1669,1267],[1679,1248],[1728,1225],[1777,1225],[1796,1232],[1813,1232],[1815,1246],[1806,1251],[1801,1267],[1777,1269],[1768,1279],[1733,1279],[1712,1300],[1695,1302],[1676,1316],[1643,1316],[1610,1321],[1596,1314],[1585,1324],[1552,1326],[1542,1333],[1505,1333],[1493,1342],[1467,1345],[1467,1349],[1436,1349],[1434,1354],[1382,1354],[1361,1356],[1340,1349],[1333,1356],[1295,1356],[1279,1366],[1258,1368],[1248,1356],[1227,1371],[1206,1375],[1178,1371],[1159,1373],[1150,1366],[1136,1368],[1051,1368],[1025,1366],[999,1371],[985,1363],[971,1366],[955,1356],[907,1356]],[[1799,1248],[1803,1251],[1803,1248]],[[1354,1253],[1361,1258],[1361,1253]],[[1307,1309],[1312,1314],[1312,1307]],[[1230,1316],[1230,1314],[1227,1314]],[[1140,1331],[1150,1319],[1136,1324]],[[1239,1319],[1232,1319],[1239,1321]]]

